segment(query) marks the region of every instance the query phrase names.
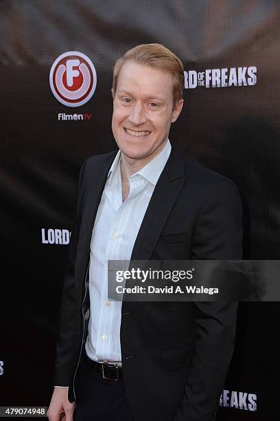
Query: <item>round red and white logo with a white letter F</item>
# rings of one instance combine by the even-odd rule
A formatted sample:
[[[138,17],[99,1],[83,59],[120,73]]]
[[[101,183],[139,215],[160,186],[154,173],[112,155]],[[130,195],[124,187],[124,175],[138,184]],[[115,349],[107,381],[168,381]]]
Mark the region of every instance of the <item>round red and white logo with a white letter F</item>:
[[[58,56],[49,72],[52,93],[67,107],[80,107],[86,104],[93,96],[96,83],[97,76],[93,62],[78,51],[69,51]]]

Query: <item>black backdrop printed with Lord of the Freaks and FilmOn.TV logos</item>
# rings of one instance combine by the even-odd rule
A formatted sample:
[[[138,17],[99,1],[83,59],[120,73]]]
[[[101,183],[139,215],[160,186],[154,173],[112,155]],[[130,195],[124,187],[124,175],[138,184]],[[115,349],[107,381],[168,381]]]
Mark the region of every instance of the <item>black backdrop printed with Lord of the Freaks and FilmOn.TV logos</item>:
[[[116,149],[130,47],[183,61],[170,140],[240,188],[244,259],[280,259],[279,26],[278,0],[1,0],[1,405],[49,404],[78,172]],[[279,420],[279,310],[240,304],[218,420]]]

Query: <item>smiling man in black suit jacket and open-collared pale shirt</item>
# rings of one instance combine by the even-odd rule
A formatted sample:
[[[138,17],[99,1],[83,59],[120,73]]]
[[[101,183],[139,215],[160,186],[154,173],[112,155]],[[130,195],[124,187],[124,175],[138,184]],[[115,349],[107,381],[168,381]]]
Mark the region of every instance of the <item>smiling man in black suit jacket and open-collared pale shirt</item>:
[[[115,64],[119,151],[80,171],[49,420],[211,421],[237,303],[108,301],[108,260],[241,259],[242,210],[226,177],[183,160],[168,135],[183,64],[159,44]],[[76,407],[75,407],[76,404]],[[64,416],[64,415],[63,415]]]

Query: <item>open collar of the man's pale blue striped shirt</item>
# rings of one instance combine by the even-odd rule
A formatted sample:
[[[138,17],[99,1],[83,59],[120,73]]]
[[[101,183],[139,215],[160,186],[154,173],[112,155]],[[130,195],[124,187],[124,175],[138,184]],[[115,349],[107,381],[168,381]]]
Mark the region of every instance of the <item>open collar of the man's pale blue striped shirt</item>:
[[[148,164],[145,164],[143,168],[139,169],[136,173],[130,175],[128,177],[131,179],[132,177],[135,177],[135,175],[139,174],[148,182],[152,183],[154,186],[156,185],[156,182],[159,180],[159,177],[163,171],[163,168],[165,167],[165,164],[170,157],[171,153],[171,144],[170,140],[167,138],[167,141],[165,143],[165,147],[163,150],[156,155]],[[117,167],[119,166],[120,162],[120,156],[121,156],[121,150],[117,152],[117,155],[115,156],[115,159],[113,160],[113,164],[110,166],[110,170],[108,171],[107,179],[110,177],[112,173],[115,173],[117,170]],[[110,180],[108,180],[108,184],[110,185],[112,177],[110,177]]]

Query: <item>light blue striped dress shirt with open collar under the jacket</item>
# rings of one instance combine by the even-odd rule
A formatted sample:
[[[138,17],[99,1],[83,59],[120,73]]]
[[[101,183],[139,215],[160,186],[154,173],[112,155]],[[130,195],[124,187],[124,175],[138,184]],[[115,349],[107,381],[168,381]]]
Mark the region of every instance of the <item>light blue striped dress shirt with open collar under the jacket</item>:
[[[163,150],[128,177],[128,198],[122,200],[120,155],[113,161],[97,210],[91,237],[89,295],[91,314],[86,354],[99,362],[121,362],[121,301],[108,301],[108,260],[130,260],[135,239],[156,182],[170,156],[169,139]]]

